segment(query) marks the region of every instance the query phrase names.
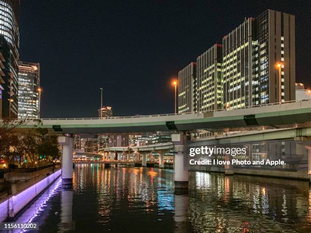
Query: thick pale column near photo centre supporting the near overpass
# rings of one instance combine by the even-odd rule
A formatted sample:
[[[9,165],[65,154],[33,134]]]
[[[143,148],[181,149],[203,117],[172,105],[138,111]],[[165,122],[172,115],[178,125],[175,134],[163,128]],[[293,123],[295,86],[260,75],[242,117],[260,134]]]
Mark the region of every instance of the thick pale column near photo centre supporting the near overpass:
[[[175,189],[188,188],[189,163],[184,152],[186,136],[183,134],[172,134],[172,142],[175,145],[174,155],[174,184]]]

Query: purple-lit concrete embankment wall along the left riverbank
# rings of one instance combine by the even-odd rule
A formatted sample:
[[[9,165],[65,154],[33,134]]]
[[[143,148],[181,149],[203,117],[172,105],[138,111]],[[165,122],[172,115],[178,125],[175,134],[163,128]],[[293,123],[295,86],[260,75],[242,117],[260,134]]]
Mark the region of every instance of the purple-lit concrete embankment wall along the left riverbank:
[[[32,173],[5,174],[9,195],[0,197],[0,222],[14,218],[60,176],[61,170],[46,168]]]

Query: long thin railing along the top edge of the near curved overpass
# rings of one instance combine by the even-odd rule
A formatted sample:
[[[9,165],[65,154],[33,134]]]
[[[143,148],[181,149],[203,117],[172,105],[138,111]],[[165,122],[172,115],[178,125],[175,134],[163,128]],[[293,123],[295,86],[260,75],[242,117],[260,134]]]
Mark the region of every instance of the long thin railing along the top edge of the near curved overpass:
[[[224,109],[216,109],[216,110],[208,110],[208,111],[197,111],[197,112],[186,112],[186,113],[170,113],[170,114],[155,114],[155,115],[138,115],[138,116],[115,116],[115,117],[90,117],[90,118],[41,118],[41,120],[99,120],[99,119],[127,119],[127,118],[145,118],[145,117],[157,117],[157,116],[176,116],[176,115],[188,115],[188,114],[196,114],[196,113],[214,113],[214,112],[223,112],[223,111],[230,111],[230,110],[237,110],[237,109],[250,109],[250,108],[258,108],[264,106],[275,106],[275,105],[283,105],[289,103],[300,103],[305,101],[311,101],[309,99],[302,99],[299,101],[285,101],[285,102],[277,102],[277,103],[270,103],[270,104],[263,104],[263,105],[253,105],[253,106],[244,106],[238,108],[224,108]],[[38,120],[38,119],[30,119],[27,118],[25,120]]]

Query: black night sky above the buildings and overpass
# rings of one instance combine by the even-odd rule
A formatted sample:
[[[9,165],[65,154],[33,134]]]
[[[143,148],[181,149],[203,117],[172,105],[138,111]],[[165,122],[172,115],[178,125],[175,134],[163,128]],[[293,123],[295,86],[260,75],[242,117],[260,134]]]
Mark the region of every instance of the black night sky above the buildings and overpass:
[[[41,63],[41,117],[174,112],[172,77],[244,17],[296,16],[296,81],[311,88],[311,1],[21,1],[20,60]]]

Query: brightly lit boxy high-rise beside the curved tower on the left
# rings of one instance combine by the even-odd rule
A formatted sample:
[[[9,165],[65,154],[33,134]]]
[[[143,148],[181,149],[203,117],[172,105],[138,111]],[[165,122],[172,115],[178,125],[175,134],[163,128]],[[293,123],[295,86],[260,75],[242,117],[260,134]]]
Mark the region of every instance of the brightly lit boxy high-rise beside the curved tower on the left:
[[[39,118],[40,64],[20,61],[18,66],[18,118]]]

